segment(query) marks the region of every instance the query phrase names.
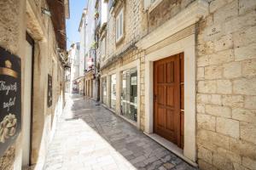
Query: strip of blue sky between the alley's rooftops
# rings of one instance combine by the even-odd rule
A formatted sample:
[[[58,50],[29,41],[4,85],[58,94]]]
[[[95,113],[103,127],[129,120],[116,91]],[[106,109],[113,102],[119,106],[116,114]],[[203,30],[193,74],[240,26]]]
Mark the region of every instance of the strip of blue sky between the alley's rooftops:
[[[69,0],[70,19],[67,24],[67,49],[73,42],[79,42],[79,23],[87,0]]]

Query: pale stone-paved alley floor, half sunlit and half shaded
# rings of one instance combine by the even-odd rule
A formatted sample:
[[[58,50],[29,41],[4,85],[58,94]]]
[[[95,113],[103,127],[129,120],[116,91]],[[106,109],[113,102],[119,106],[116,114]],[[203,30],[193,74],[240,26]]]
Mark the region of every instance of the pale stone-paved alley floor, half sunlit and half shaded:
[[[96,104],[79,96],[67,101],[44,170],[196,169]]]

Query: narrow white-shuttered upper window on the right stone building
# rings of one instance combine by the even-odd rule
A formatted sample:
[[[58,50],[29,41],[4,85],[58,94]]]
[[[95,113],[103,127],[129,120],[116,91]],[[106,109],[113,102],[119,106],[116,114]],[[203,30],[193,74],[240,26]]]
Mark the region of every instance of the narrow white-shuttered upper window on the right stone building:
[[[115,40],[118,42],[124,36],[124,10],[121,9],[115,19]]]

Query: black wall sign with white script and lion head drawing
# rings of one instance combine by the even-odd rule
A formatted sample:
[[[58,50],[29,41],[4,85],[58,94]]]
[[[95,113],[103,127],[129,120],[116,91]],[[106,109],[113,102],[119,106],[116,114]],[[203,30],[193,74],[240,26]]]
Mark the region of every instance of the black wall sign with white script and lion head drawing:
[[[0,156],[21,129],[20,58],[0,48]]]

